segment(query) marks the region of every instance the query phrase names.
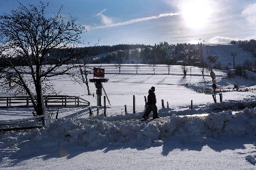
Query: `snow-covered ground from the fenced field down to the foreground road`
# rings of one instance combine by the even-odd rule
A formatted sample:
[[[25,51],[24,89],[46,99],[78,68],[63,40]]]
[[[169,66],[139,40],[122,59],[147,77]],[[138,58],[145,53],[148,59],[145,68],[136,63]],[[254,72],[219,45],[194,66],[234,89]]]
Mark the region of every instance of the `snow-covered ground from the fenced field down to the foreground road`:
[[[48,118],[44,128],[0,133],[0,169],[255,169],[254,80],[228,79],[226,71],[214,70],[219,89],[214,103],[212,94],[199,91],[212,88],[210,71],[203,76],[199,68],[191,67],[184,76],[180,66],[172,66],[170,75],[165,65],[157,65],[155,74],[150,65],[140,65],[138,74],[134,65],[124,65],[121,74],[114,65],[102,68],[109,79],[103,83],[111,104],[106,101],[106,117],[103,107],[98,107],[97,116],[93,83],[89,82],[87,95],[85,84],[65,75],[53,78],[60,95],[90,101],[94,116],[89,117],[88,107],[50,107],[53,119]],[[236,82],[240,90],[233,91]],[[144,96],[152,86],[162,120],[140,121]],[[1,109],[0,124],[29,118],[31,112],[32,108]]]

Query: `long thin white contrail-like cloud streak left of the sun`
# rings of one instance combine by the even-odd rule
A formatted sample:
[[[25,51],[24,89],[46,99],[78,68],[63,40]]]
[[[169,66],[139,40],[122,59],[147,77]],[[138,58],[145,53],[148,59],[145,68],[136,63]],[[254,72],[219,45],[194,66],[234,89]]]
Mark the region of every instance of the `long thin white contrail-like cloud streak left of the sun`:
[[[101,13],[99,13],[99,14],[101,14]],[[162,17],[165,17],[165,16],[175,16],[175,15],[178,15],[178,14],[177,13],[159,14],[158,16],[150,16],[150,17],[145,17],[145,18],[137,18],[137,19],[128,20],[128,21],[125,21],[125,22],[118,22],[118,23],[115,23],[115,24],[105,24],[103,26],[94,27],[92,29],[104,29],[104,28],[108,28],[108,27],[117,27],[117,26],[126,25],[126,24],[133,24],[135,22],[141,22],[141,21],[145,21],[145,20],[152,20],[152,19],[162,18]]]

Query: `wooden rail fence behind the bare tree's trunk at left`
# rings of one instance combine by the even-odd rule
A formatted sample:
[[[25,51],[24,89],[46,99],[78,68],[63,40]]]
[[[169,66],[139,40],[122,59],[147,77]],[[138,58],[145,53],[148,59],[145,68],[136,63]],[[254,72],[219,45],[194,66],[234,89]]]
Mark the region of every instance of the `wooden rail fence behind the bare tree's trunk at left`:
[[[36,97],[35,97],[36,99]],[[89,106],[89,101],[81,99],[76,96],[56,95],[56,96],[44,96],[44,103],[46,107],[81,107]],[[0,97],[0,108],[9,107],[32,107],[31,98],[27,96],[23,97]]]

